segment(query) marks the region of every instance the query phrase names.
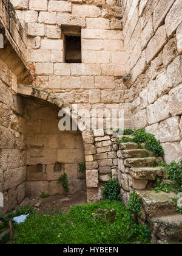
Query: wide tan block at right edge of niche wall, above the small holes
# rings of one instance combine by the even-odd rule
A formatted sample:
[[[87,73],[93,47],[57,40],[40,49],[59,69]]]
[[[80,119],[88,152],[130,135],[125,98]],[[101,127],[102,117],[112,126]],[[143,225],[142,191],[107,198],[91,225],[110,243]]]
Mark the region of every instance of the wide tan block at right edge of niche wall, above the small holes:
[[[81,149],[58,149],[60,163],[83,163],[84,161],[84,152]]]

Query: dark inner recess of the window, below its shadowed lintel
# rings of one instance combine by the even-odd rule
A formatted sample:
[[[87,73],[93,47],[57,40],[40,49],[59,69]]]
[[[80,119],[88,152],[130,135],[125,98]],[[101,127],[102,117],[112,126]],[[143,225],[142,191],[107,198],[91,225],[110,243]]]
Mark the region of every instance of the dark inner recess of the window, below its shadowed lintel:
[[[81,37],[65,35],[65,62],[81,63]]]

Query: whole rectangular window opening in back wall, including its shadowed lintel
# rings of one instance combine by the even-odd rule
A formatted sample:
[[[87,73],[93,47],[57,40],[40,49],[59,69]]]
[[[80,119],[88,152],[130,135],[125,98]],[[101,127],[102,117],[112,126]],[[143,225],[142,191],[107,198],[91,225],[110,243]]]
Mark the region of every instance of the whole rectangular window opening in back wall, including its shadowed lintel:
[[[81,27],[64,26],[64,62],[82,63],[81,60]]]

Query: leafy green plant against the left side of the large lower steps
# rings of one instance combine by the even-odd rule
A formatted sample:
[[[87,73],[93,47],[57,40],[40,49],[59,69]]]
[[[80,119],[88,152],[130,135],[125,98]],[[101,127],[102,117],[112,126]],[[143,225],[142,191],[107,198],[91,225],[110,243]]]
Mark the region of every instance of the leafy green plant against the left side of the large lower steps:
[[[130,213],[141,216],[141,209],[143,205],[141,204],[141,199],[138,194],[135,193],[135,190],[132,190],[130,193],[129,203],[128,203],[128,210]]]

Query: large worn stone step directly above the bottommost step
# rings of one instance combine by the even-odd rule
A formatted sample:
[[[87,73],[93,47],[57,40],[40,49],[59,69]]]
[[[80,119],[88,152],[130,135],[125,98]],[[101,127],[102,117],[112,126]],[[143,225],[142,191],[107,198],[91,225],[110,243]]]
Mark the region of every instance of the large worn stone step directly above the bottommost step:
[[[177,198],[174,193],[155,193],[153,190],[137,191],[143,202],[143,208],[147,218],[175,215],[177,205],[172,198]]]

